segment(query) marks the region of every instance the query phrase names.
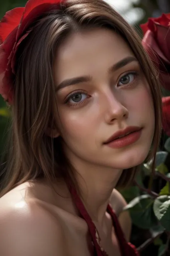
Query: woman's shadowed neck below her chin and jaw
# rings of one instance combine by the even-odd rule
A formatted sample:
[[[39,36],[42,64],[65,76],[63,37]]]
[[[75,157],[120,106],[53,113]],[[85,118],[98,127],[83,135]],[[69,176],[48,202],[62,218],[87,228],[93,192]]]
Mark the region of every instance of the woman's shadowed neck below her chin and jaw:
[[[82,160],[72,161],[76,169],[76,180],[81,200],[91,219],[102,225],[112,191],[122,171],[96,166]]]

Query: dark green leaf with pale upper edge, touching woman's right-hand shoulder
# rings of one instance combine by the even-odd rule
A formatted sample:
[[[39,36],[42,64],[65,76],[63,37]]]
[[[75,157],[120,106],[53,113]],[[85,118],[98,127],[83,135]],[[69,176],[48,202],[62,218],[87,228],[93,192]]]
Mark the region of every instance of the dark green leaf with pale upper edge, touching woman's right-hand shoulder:
[[[153,211],[154,200],[149,195],[134,198],[124,210],[129,210],[133,224],[142,229],[149,229],[157,225]]]

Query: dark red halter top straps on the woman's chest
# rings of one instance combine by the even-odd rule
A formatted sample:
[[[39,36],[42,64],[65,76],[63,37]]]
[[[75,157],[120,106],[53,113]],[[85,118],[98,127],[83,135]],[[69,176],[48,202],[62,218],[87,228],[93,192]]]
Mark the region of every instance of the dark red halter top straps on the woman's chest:
[[[100,246],[100,237],[99,237],[98,231],[97,231],[93,221],[91,220],[90,215],[86,211],[75,188],[73,188],[72,186],[69,186],[69,189],[70,189],[70,193],[72,195],[72,199],[75,203],[75,206],[79,210],[81,217],[88,224],[89,232],[91,234],[92,244],[94,245],[94,246],[91,246],[91,248],[90,248],[91,255],[93,255],[93,256],[108,256],[108,254]],[[133,246],[131,243],[128,243],[126,241],[123,231],[122,231],[122,228],[119,224],[118,218],[110,205],[108,205],[108,207],[107,207],[107,212],[112,217],[112,222],[113,222],[116,237],[118,239],[121,256],[139,256],[139,253],[136,250],[135,246]]]

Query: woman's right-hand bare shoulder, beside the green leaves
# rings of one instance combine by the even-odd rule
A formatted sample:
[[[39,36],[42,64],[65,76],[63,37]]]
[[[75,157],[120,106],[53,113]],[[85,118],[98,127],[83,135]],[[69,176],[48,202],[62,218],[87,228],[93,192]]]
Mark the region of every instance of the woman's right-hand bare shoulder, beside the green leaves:
[[[118,192],[118,190],[113,189],[112,196],[110,197],[110,203],[118,216],[124,235],[127,241],[129,241],[131,236],[132,221],[129,212],[123,211],[123,208],[127,205],[127,202],[121,193]]]

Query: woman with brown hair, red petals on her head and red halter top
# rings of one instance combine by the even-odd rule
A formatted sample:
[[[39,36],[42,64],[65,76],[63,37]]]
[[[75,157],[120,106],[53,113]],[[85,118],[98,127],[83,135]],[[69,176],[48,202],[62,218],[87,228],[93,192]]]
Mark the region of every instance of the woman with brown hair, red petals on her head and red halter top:
[[[29,0],[0,35],[13,114],[0,255],[138,255],[114,188],[155,156],[161,93],[136,32],[102,0]]]

